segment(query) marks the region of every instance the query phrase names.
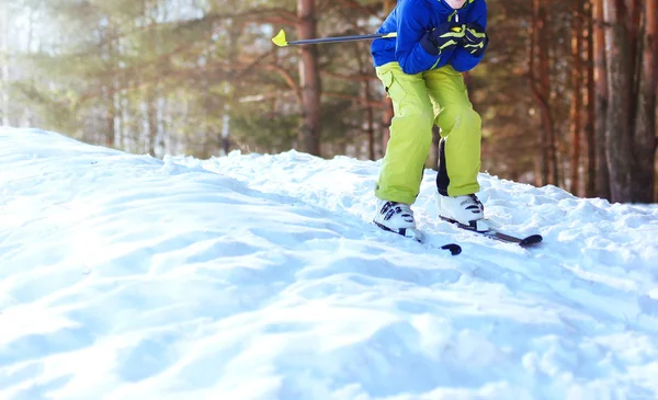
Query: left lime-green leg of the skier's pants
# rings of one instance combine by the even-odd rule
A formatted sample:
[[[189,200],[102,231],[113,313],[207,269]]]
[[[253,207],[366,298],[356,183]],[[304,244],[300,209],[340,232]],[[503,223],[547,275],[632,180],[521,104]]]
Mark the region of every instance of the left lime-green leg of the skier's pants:
[[[394,117],[375,196],[412,204],[432,144],[432,102],[421,73],[407,75],[397,62],[377,67],[376,72],[393,101]]]

